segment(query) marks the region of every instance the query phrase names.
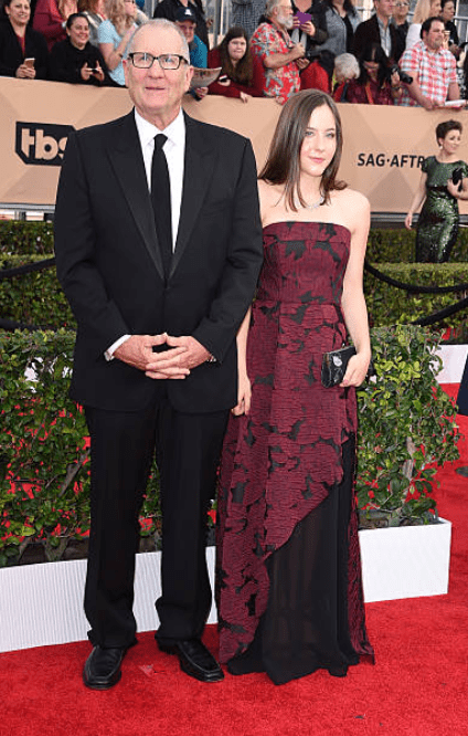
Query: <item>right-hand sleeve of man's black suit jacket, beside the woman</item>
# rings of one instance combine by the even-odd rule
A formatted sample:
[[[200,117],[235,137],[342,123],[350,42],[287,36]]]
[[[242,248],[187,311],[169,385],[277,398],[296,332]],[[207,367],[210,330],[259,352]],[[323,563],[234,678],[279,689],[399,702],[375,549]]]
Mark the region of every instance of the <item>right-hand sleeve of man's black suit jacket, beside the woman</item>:
[[[224,271],[209,314],[193,332],[193,337],[220,362],[252,303],[263,261],[257,175],[249,140],[244,144],[233,203]]]

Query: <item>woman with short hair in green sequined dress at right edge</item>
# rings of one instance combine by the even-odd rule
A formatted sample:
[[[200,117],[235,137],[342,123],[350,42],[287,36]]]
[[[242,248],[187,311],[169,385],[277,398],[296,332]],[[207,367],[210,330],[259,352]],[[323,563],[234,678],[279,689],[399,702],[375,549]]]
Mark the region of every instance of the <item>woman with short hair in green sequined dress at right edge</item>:
[[[461,123],[445,120],[436,127],[439,146],[437,156],[425,158],[419,187],[405,219],[411,230],[413,214],[423,204],[416,231],[416,262],[444,263],[448,261],[458,235],[458,199],[468,198],[468,166],[457,158],[461,140]],[[461,172],[454,185],[454,171]]]

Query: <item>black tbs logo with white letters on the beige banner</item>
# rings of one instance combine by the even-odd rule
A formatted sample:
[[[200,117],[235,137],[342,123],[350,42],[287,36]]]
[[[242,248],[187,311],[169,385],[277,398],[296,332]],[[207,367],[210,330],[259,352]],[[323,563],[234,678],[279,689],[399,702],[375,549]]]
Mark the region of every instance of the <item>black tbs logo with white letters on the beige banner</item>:
[[[66,139],[73,125],[17,123],[14,150],[24,164],[62,166]]]

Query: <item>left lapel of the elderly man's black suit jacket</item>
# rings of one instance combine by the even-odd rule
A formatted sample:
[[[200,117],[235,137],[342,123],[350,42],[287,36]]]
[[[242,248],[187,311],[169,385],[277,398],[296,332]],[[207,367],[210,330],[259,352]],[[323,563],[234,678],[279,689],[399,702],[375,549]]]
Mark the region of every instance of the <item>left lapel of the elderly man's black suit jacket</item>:
[[[108,156],[145,246],[159,275],[163,278],[155,215],[134,112],[126,115],[116,125],[114,139],[109,138]]]

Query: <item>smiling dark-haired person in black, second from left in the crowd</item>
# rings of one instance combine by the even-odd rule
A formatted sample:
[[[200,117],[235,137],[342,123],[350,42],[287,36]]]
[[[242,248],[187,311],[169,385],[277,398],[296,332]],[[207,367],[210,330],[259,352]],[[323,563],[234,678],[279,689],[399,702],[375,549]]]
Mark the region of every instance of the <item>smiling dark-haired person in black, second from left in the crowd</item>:
[[[54,82],[114,85],[103,54],[89,43],[89,23],[84,13],[70,15],[65,41],[52,46],[49,76]]]

